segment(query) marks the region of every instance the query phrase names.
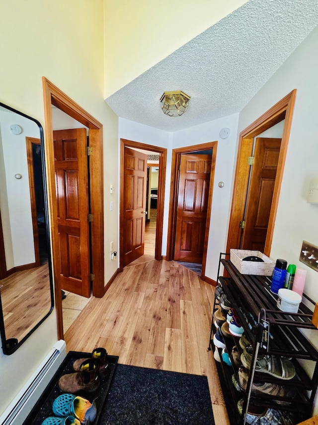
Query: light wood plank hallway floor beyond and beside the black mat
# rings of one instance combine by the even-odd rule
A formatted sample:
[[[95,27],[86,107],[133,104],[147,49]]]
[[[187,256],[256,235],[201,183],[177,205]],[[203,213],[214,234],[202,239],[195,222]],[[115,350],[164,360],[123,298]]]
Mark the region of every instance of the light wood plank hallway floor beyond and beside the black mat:
[[[81,311],[64,336],[67,349],[105,347],[122,364],[206,375],[215,423],[229,424],[207,350],[213,298],[213,286],[176,262],[129,265]]]

